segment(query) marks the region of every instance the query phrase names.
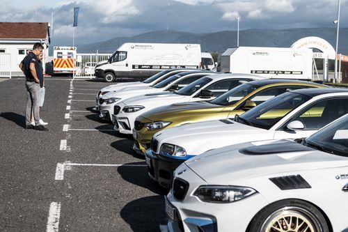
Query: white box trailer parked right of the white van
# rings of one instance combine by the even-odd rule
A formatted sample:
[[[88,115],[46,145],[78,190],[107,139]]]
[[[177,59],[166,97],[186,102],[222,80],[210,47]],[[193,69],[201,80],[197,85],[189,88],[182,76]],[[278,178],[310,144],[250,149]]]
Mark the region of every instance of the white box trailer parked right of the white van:
[[[268,78],[312,79],[312,49],[236,47],[221,55],[221,72]]]

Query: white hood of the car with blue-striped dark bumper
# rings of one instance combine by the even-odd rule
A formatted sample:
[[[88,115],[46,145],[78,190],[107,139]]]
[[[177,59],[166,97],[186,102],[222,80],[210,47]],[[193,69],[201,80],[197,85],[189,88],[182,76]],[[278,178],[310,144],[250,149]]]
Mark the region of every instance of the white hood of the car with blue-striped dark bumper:
[[[230,119],[190,123],[171,127],[154,135],[154,139],[161,144],[175,144],[182,146],[187,155],[200,155],[207,150],[221,148],[247,141],[273,139],[274,132],[236,123]],[[158,150],[155,150],[158,153]]]

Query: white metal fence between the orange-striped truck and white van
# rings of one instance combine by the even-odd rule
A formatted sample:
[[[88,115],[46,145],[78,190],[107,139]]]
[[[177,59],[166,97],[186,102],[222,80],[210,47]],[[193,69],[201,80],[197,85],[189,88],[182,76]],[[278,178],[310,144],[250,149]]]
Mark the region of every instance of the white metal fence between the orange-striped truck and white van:
[[[111,54],[77,54],[76,72],[74,78],[94,78],[95,65],[106,61]]]

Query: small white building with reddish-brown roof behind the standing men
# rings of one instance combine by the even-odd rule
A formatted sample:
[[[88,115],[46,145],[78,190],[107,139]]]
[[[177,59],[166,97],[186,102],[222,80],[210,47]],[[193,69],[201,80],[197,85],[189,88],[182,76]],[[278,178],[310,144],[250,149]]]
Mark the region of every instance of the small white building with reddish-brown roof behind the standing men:
[[[0,22],[0,54],[10,54],[10,70],[12,76],[22,76],[19,63],[27,52],[33,49],[35,42],[41,42],[44,46],[44,58],[42,66],[45,73],[49,44],[48,22]]]

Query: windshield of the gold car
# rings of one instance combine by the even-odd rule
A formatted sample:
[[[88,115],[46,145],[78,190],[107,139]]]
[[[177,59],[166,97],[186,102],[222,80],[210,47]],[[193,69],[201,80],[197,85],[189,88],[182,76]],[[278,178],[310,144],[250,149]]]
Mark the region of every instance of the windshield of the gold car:
[[[223,106],[233,105],[257,88],[259,88],[259,86],[254,86],[253,84],[241,84],[240,86],[232,88],[227,93],[224,93],[219,98],[215,98],[212,100],[212,103]]]

